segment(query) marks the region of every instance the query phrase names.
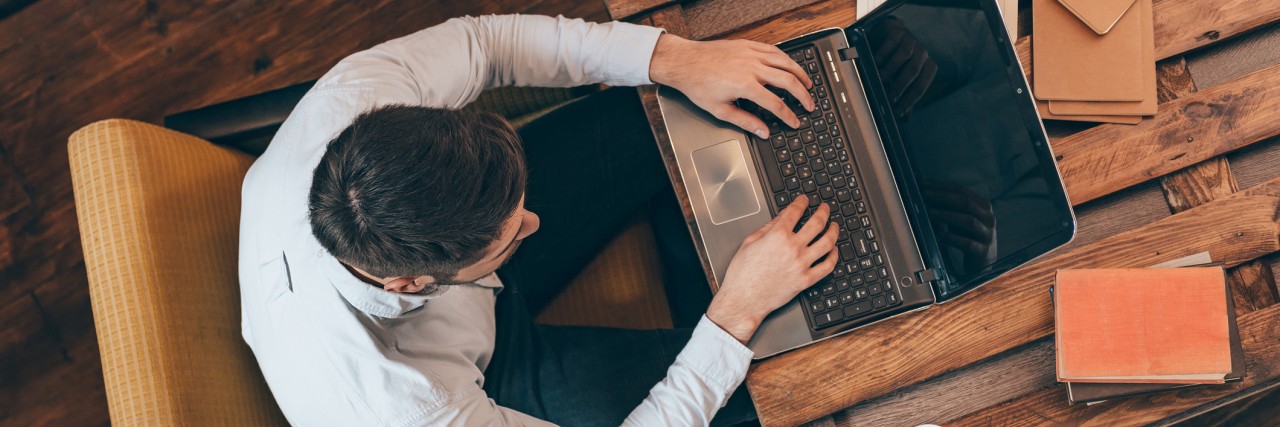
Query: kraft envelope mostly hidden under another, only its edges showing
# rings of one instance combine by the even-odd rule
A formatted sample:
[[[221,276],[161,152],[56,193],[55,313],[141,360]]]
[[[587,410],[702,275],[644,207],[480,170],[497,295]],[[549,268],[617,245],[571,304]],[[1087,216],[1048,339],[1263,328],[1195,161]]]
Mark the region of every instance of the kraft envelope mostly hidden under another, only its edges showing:
[[[1155,115],[1156,114],[1156,28],[1151,18],[1151,0],[1138,0],[1129,14],[1142,17],[1142,101],[1050,101],[1057,115]]]

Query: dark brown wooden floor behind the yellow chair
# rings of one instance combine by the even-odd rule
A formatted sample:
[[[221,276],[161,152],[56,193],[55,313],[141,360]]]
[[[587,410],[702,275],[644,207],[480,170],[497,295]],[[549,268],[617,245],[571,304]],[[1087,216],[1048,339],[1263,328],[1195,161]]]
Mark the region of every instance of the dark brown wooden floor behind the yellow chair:
[[[95,120],[320,77],[340,58],[463,14],[608,19],[600,1],[0,1],[0,424],[108,423],[68,173]]]

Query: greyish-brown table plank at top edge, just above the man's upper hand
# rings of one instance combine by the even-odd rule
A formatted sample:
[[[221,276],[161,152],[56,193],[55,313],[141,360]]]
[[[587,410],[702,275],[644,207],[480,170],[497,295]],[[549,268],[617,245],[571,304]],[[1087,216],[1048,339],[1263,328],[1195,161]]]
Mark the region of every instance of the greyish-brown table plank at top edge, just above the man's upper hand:
[[[701,0],[685,6],[692,38],[716,37],[818,0]],[[852,5],[852,0],[847,0]],[[754,26],[753,26],[754,27]]]

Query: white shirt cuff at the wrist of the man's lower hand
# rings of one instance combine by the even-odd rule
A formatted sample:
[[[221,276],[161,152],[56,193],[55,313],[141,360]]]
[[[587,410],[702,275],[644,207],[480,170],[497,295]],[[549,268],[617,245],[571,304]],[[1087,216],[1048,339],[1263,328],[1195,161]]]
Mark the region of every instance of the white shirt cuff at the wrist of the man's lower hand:
[[[728,335],[703,316],[676,361],[687,364],[708,382],[723,387],[726,392],[732,392],[746,378],[746,369],[751,366],[754,354],[733,335]]]

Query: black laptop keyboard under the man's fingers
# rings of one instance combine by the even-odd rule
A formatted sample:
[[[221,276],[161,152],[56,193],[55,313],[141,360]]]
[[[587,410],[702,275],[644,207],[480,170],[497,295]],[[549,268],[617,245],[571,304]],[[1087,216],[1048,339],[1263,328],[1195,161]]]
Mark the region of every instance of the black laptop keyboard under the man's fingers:
[[[792,129],[773,114],[749,101],[744,109],[764,119],[769,138],[753,137],[759,152],[769,203],[774,212],[791,205],[800,194],[809,197],[801,224],[809,220],[818,203],[831,207],[831,221],[840,224],[840,261],[831,276],[818,281],[799,297],[814,330],[846,323],[902,303],[897,286],[884,263],[878,239],[879,228],[867,207],[863,187],[832,100],[824,64],[813,46],[788,52],[813,79],[814,110],[805,111],[800,102],[781,89],[773,89],[800,119]]]

